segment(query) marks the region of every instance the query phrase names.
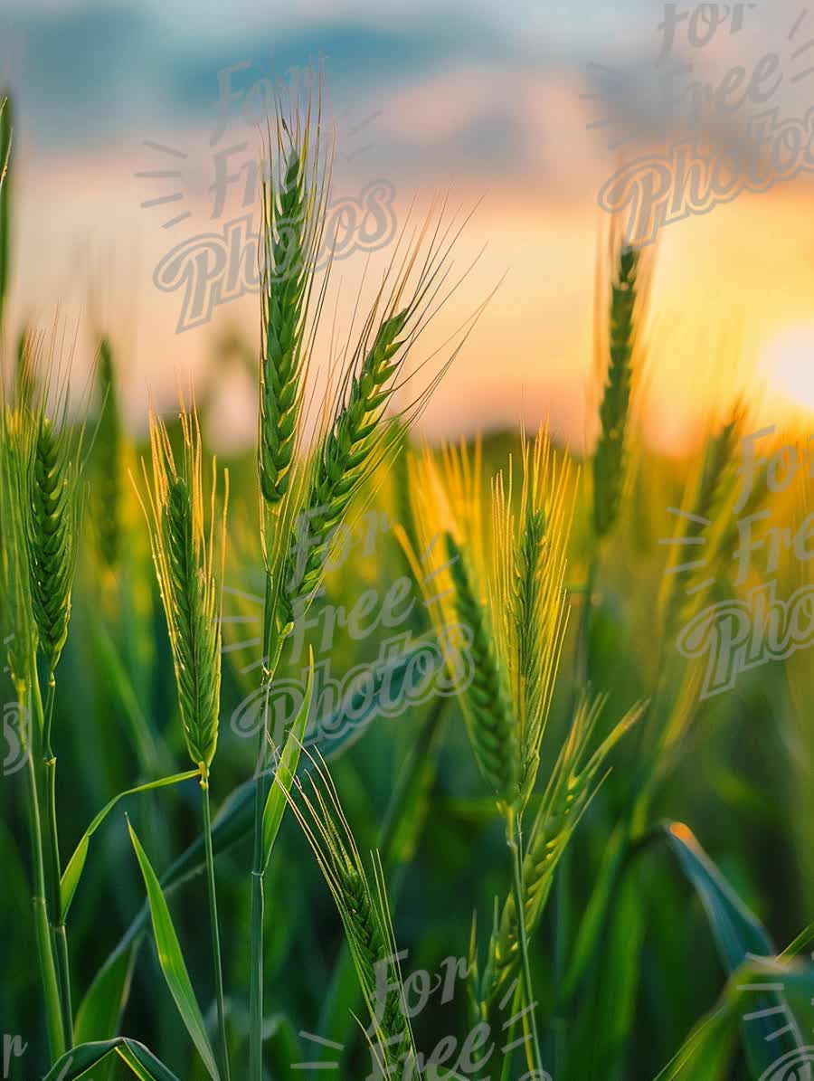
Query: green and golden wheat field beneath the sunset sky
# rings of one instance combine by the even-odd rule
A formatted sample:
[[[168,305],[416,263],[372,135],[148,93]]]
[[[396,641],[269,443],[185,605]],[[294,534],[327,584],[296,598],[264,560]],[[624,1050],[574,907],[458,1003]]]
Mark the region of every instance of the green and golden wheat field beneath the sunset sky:
[[[466,226],[325,348],[318,117],[267,129],[250,452],[194,386],[138,441],[116,326],[78,410],[58,319],[2,328],[3,1076],[811,1078],[808,432],[648,446],[609,221],[590,453],[427,445]]]

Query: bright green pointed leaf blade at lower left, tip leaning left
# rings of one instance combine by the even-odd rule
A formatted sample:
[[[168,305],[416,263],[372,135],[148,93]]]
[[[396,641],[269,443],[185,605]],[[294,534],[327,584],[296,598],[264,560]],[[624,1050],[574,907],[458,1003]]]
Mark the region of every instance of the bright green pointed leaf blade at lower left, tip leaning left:
[[[166,986],[170,988],[170,993],[175,1000],[175,1005],[178,1007],[182,1020],[192,1039],[192,1043],[198,1049],[198,1053],[210,1077],[213,1078],[213,1081],[219,1081],[221,1075],[215,1065],[215,1056],[206,1036],[201,1010],[192,990],[184,955],[181,951],[178,936],[175,934],[175,927],[173,926],[170,909],[166,906],[161,885],[130,822],[128,822],[128,829],[130,830],[130,839],[133,842],[133,849],[138,859],[138,866],[142,868],[144,884],[147,889],[147,900],[149,902],[150,915],[152,917],[152,933],[156,936],[158,960],[161,971],[164,974]]]

